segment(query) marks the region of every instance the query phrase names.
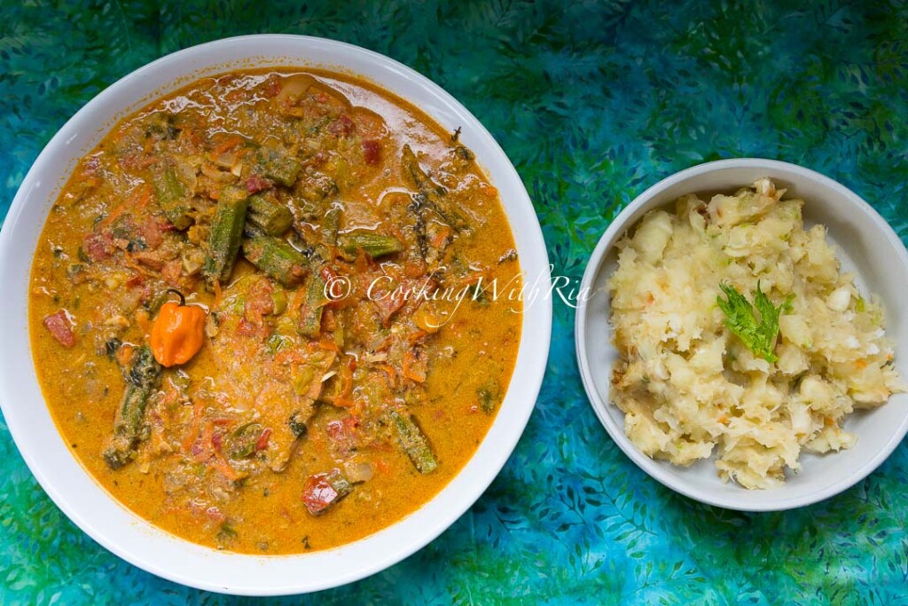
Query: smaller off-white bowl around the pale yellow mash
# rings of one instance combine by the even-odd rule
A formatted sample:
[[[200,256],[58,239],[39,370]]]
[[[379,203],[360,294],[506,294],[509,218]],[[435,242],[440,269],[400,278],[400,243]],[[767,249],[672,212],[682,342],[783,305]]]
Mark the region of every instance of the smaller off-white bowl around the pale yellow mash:
[[[608,277],[617,268],[615,243],[627,229],[652,210],[683,194],[734,193],[759,177],[771,177],[804,199],[804,223],[821,223],[837,247],[844,268],[858,274],[862,293],[880,296],[886,313],[886,334],[895,342],[895,363],[908,379],[908,313],[904,285],[908,283],[908,253],[892,228],[856,194],[814,171],[754,158],[700,164],[674,174],[640,194],[617,216],[599,240],[587,265],[581,288],[589,289],[586,305],[577,310],[577,361],[589,401],[612,440],[633,462],[667,487],[700,502],[744,512],[770,512],[822,501],[843,492],[873,472],[908,432],[908,394],[899,393],[870,412],[850,415],[845,427],[858,436],[853,448],[827,455],[804,453],[803,470],[787,474],[784,487],[748,491],[723,483],[715,462],[705,460],[688,468],[654,461],[637,450],[624,432],[624,413],[609,402],[612,364],[618,354],[608,323]],[[708,199],[708,198],[707,198]],[[583,292],[583,291],[581,291]]]

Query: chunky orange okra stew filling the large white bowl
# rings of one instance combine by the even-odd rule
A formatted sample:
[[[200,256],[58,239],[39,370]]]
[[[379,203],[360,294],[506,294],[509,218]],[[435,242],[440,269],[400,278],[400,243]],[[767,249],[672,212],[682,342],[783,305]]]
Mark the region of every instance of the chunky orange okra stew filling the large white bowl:
[[[326,549],[475,452],[519,281],[459,133],[347,75],[236,72],[77,165],[35,253],[35,366],[75,456],[144,519],[224,550]]]

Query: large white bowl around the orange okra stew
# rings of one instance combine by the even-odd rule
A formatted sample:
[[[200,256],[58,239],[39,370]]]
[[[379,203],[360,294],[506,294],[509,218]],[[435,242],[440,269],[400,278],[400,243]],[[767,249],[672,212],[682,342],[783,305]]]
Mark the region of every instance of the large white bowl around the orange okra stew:
[[[25,176],[0,233],[0,402],[19,451],[57,506],[124,560],[193,587],[279,595],[321,590],[380,571],[417,551],[467,511],[508,460],[533,410],[548,357],[552,312],[546,298],[527,306],[507,395],[464,469],[419,511],[365,539],[311,554],[240,555],[183,541],[115,502],[74,459],[44,405],[28,339],[32,253],[61,184],[116,120],[203,75],[265,66],[316,66],[361,75],[416,104],[445,128],[462,127],[462,141],[501,194],[528,282],[548,284],[548,256],[518,174],[482,124],[425,77],[352,45],[252,35],[195,46],[146,65],[98,94],[47,144]]]

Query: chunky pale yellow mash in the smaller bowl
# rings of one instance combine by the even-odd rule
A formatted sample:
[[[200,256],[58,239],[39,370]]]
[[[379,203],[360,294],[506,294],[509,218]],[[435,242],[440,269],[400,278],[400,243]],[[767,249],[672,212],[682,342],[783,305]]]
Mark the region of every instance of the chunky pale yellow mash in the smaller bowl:
[[[903,391],[880,303],[783,194],[760,179],[646,214],[608,282],[627,436],[677,465],[717,452],[719,476],[750,489],[784,483],[802,449],[850,447],[844,417]]]

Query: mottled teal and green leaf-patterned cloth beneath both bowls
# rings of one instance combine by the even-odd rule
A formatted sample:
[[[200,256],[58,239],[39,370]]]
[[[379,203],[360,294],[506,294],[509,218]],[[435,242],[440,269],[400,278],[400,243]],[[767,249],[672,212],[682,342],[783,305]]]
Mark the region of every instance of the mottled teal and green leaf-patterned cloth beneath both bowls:
[[[2,0],[0,216],[44,144],[105,86],[186,46],[263,32],[365,46],[454,94],[517,166],[556,272],[576,279],[624,204],[717,158],[813,168],[908,237],[908,5],[827,0]],[[903,443],[864,482],[795,512],[727,512],[663,488],[597,422],[572,310],[556,302],[536,412],[479,502],[388,571],[274,603],[903,604],[906,485]],[[232,602],[91,541],[0,424],[0,603]]]

